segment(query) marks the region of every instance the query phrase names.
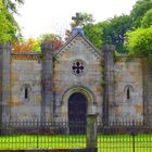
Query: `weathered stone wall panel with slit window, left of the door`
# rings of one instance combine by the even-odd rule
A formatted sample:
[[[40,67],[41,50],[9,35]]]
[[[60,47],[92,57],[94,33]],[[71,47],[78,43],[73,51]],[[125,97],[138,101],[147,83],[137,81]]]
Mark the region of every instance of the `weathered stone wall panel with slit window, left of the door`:
[[[41,115],[41,61],[34,54],[12,54],[11,119],[39,119]]]

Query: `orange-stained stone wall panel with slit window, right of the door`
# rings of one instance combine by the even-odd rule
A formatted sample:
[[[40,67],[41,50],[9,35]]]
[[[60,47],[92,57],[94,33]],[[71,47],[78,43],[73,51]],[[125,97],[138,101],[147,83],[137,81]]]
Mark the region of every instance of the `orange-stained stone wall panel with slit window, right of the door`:
[[[142,58],[117,58],[114,65],[115,105],[113,119],[143,119]],[[128,91],[128,92],[127,92]]]

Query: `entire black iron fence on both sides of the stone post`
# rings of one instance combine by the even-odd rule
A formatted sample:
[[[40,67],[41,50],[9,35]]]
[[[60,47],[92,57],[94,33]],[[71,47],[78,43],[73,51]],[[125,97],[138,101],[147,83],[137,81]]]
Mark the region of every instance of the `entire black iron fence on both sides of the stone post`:
[[[4,122],[0,130],[0,150],[87,147],[87,124],[80,122]],[[97,139],[98,152],[152,152],[152,126],[142,121],[98,122]]]

